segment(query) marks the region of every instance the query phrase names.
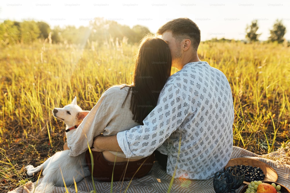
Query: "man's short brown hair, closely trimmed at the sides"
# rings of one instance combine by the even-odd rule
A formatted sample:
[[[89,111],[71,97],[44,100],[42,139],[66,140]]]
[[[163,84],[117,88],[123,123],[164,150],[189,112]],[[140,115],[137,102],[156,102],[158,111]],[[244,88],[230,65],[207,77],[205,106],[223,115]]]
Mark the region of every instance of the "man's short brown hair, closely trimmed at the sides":
[[[162,25],[157,34],[162,35],[166,31],[171,31],[173,37],[180,42],[185,38],[190,39],[192,47],[197,51],[200,44],[200,29],[192,20],[188,18],[173,19]]]

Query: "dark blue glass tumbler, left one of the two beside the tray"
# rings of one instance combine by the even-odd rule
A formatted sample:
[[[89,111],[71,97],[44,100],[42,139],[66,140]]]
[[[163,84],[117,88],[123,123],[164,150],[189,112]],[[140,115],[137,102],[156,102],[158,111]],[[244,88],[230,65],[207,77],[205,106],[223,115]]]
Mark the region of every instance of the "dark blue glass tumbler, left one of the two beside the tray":
[[[226,172],[216,172],[213,177],[213,188],[216,193],[231,192],[233,178]]]

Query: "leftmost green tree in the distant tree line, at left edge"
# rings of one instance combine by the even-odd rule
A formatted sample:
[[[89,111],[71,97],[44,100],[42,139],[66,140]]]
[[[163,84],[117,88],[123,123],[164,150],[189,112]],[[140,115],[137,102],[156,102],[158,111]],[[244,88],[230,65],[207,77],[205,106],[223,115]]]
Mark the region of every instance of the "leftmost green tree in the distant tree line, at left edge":
[[[19,42],[19,30],[13,21],[5,20],[0,24],[0,42],[1,44],[14,44]]]

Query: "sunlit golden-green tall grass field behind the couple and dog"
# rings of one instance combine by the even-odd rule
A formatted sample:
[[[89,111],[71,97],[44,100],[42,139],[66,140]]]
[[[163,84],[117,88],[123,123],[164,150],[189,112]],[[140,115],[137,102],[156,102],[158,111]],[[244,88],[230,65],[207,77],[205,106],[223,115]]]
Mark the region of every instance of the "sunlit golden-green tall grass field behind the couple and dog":
[[[39,165],[62,149],[64,124],[52,117],[52,109],[77,96],[78,104],[90,110],[108,87],[130,83],[136,51],[131,45],[1,48],[0,192],[35,181],[37,176],[28,178],[24,167]],[[198,54],[231,84],[235,146],[265,154],[290,142],[289,47],[208,42],[201,43]]]

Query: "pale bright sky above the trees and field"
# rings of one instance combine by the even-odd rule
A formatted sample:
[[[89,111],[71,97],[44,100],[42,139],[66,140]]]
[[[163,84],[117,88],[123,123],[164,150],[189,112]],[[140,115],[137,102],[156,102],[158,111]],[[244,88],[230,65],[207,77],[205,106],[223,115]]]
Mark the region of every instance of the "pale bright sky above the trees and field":
[[[88,26],[95,17],[117,21],[133,27],[143,25],[155,33],[164,23],[180,17],[193,20],[200,28],[201,40],[226,38],[243,40],[246,27],[258,20],[259,40],[267,40],[276,19],[286,27],[284,38],[290,41],[289,0],[238,1],[56,1],[1,0],[0,23],[13,21],[44,21],[51,28],[59,25]]]

